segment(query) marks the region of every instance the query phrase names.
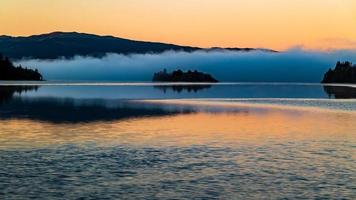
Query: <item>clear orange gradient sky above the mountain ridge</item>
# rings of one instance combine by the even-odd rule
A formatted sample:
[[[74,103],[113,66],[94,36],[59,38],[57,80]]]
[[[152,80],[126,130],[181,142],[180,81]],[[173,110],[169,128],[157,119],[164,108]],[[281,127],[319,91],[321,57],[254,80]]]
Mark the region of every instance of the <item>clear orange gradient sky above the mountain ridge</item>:
[[[78,31],[211,47],[355,49],[355,0],[1,0],[0,35]]]

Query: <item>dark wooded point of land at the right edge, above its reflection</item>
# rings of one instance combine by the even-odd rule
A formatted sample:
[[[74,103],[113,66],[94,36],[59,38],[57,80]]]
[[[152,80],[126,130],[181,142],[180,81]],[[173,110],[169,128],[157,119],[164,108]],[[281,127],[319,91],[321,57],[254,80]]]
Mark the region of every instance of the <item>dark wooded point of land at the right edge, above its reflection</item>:
[[[325,73],[322,83],[356,83],[356,66],[351,62],[337,62],[335,69]]]

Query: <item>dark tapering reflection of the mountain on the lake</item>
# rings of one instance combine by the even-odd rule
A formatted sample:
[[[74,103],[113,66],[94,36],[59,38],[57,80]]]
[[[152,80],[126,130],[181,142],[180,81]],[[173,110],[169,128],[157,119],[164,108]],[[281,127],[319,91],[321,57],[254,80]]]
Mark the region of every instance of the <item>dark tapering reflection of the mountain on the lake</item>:
[[[0,105],[0,119],[31,119],[52,123],[112,121],[181,112],[189,112],[189,110],[165,110],[127,101],[98,99],[14,98],[11,102]]]

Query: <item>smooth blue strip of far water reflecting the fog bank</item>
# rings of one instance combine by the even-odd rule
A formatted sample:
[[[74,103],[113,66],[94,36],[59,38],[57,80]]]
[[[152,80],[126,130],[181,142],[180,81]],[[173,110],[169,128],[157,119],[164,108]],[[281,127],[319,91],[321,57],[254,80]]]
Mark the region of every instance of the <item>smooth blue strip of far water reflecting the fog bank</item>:
[[[7,83],[8,84],[8,83]],[[21,83],[24,84],[24,83]],[[0,82],[1,85],[1,82]],[[0,86],[0,88],[6,88]],[[323,86],[320,84],[150,84],[150,83],[44,83],[37,90],[21,96],[91,99],[181,99],[181,98],[354,98],[354,85]],[[0,93],[1,95],[1,93]]]

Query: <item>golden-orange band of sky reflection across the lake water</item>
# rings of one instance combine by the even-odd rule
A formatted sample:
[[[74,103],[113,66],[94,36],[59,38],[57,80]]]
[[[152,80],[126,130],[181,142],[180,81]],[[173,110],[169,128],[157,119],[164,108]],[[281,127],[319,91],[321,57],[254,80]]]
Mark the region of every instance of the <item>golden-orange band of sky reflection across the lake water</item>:
[[[63,144],[190,146],[301,140],[356,141],[356,114],[267,108],[197,112],[92,123],[2,120],[0,148]]]

